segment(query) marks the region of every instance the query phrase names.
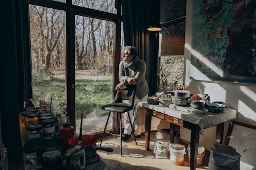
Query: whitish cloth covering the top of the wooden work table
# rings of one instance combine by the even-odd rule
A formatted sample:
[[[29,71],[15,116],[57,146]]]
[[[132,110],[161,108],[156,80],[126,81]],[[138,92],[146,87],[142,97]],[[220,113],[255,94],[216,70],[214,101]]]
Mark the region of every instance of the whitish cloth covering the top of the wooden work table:
[[[169,116],[173,116],[192,124],[197,124],[201,129],[205,129],[211,126],[218,125],[220,123],[226,122],[227,120],[236,118],[237,111],[225,108],[224,113],[203,113],[203,114],[192,114],[187,113],[175,109],[171,109],[169,107],[163,107],[159,105],[150,105],[147,102],[139,102],[139,107],[145,107],[151,110],[155,110]]]

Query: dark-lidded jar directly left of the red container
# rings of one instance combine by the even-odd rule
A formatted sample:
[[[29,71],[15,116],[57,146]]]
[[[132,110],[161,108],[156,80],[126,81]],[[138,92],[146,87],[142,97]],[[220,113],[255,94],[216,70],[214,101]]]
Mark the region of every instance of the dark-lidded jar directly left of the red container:
[[[55,120],[52,118],[42,120],[42,135],[46,138],[51,138],[55,133]]]

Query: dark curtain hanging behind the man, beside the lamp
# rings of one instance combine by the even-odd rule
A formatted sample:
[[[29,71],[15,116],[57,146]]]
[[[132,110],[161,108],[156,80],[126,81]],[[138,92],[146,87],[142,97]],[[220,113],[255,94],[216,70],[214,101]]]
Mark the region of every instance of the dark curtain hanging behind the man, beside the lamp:
[[[150,95],[157,89],[159,33],[147,28],[153,14],[158,14],[159,19],[159,8],[159,1],[155,0],[122,0],[124,44],[135,46],[138,57],[146,62]]]

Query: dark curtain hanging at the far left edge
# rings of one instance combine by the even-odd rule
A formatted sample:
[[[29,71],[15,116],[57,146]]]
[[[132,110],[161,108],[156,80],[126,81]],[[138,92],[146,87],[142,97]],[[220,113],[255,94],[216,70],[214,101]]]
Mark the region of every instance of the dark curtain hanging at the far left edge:
[[[8,150],[20,147],[19,112],[32,97],[28,0],[1,3],[1,130]]]

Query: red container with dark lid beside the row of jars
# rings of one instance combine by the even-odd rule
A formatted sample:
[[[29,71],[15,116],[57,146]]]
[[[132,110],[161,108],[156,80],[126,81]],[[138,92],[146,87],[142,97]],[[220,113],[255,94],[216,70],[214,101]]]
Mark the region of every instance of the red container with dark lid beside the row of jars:
[[[71,123],[63,123],[63,127],[59,130],[59,138],[62,139],[65,144],[69,143],[69,139],[74,137],[74,127]]]

